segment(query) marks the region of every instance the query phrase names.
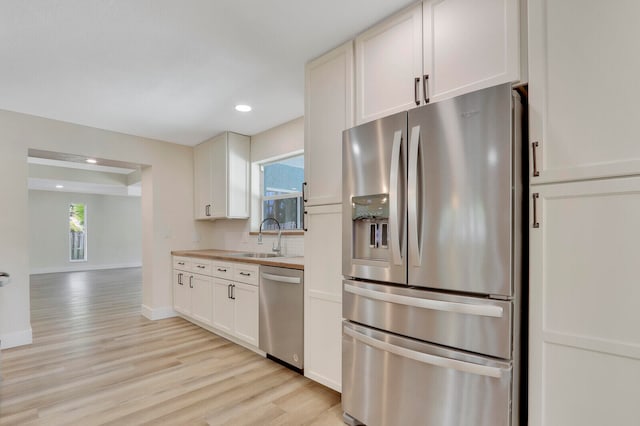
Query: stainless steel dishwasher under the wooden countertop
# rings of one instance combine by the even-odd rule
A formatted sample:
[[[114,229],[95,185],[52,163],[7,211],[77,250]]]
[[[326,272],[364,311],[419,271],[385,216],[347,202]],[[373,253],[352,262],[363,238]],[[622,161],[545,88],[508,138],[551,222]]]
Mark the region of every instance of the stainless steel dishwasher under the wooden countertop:
[[[304,368],[304,272],[260,266],[260,349],[294,370]]]

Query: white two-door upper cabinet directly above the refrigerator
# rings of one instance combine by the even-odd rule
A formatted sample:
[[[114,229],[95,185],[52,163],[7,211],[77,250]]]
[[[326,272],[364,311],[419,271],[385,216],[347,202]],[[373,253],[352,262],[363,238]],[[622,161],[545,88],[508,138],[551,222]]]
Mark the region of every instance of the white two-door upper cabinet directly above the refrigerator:
[[[525,80],[520,1],[429,0],[358,36],[356,122]]]

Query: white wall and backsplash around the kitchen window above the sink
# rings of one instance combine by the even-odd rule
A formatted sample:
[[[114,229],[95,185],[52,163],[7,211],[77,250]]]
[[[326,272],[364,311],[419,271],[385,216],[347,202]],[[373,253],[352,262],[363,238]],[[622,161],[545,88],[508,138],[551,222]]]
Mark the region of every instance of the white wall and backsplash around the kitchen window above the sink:
[[[275,159],[304,150],[304,117],[276,126],[251,137],[251,162]],[[251,170],[252,187],[259,187],[259,176],[254,167]],[[251,203],[251,215],[259,208],[254,193]],[[203,244],[216,249],[268,252],[275,241],[273,236],[265,236],[263,244],[258,245],[257,236],[249,235],[251,220],[216,220],[210,225],[212,234],[203,240]],[[257,225],[254,222],[254,229]],[[302,235],[283,236],[282,250],[288,256],[304,255],[304,237]]]

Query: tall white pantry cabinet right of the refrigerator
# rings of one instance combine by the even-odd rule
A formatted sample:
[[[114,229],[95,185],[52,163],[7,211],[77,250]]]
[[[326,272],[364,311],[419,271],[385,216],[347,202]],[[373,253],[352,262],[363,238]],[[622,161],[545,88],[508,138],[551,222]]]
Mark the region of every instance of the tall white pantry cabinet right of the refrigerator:
[[[528,16],[529,424],[638,424],[640,2]]]

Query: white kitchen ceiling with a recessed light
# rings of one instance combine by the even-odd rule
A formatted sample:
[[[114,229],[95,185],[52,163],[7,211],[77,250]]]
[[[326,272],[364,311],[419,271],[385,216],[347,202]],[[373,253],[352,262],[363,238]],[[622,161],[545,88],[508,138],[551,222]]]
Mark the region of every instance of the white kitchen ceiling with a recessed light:
[[[185,145],[254,135],[303,115],[308,60],[413,2],[2,0],[0,109]]]

